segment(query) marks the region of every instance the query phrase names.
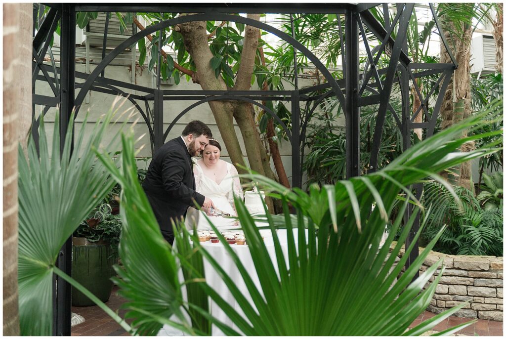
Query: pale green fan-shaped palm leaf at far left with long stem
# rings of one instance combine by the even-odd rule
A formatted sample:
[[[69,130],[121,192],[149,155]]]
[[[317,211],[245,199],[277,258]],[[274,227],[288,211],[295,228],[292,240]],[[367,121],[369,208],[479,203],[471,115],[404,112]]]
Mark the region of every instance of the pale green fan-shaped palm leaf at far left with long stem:
[[[63,276],[75,288],[101,303],[56,268],[55,262],[65,241],[115,184],[104,166],[96,161],[93,150],[101,148],[113,114],[111,110],[101,118],[86,139],[85,128],[82,128],[76,135],[73,152],[73,116],[70,118],[62,154],[58,115],[54,124],[56,132],[51,142],[47,139],[44,118],[41,117],[38,154],[33,140],[28,143],[28,159],[19,147],[18,282],[23,335],[52,334],[53,274]],[[82,126],[86,124],[87,119]],[[115,139],[113,137],[113,141],[105,145],[106,148],[114,149]],[[111,310],[108,312],[116,320],[121,320]]]

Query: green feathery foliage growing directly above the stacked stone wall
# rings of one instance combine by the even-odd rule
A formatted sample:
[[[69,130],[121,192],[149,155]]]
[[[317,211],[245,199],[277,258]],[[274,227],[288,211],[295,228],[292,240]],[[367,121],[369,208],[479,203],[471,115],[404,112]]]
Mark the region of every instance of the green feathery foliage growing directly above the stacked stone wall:
[[[430,214],[423,238],[432,240],[447,228],[434,249],[451,255],[502,256],[502,205],[484,209],[473,192],[454,187],[458,200],[441,184],[425,184],[424,202]]]

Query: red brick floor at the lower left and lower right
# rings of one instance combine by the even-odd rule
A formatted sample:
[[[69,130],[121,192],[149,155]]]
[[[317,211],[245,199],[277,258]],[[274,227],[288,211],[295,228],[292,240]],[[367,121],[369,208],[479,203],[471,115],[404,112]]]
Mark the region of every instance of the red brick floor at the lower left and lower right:
[[[117,295],[117,287],[114,286],[111,298],[106,303],[107,306],[113,311],[118,312],[119,316],[124,317],[126,310],[119,309],[124,302],[125,300]],[[86,319],[82,324],[72,327],[72,335],[129,335],[98,306],[72,307],[72,312]],[[413,321],[410,327],[416,326],[433,316],[434,313],[425,311]],[[468,318],[449,317],[436,325],[433,330],[441,331],[469,320]],[[502,322],[479,319],[474,324],[461,329],[457,333],[464,335],[502,336]]]

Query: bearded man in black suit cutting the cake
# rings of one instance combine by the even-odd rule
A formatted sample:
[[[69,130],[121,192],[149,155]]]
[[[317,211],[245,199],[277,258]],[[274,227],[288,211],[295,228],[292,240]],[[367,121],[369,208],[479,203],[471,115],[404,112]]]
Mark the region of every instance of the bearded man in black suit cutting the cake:
[[[163,238],[172,245],[175,223],[186,217],[186,210],[196,201],[207,211],[214,207],[211,199],[195,191],[191,157],[202,151],[213,134],[205,123],[188,123],[181,137],[168,141],[153,155],[142,187],[146,192]],[[198,206],[197,206],[198,207]]]

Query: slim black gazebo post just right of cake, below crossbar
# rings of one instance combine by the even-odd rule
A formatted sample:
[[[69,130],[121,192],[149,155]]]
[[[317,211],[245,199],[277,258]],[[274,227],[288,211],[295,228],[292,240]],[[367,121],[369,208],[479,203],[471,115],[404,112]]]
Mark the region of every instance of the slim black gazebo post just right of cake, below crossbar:
[[[291,94],[291,185],[302,187],[301,171],[301,106],[299,91],[292,91]]]

